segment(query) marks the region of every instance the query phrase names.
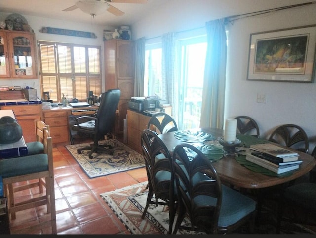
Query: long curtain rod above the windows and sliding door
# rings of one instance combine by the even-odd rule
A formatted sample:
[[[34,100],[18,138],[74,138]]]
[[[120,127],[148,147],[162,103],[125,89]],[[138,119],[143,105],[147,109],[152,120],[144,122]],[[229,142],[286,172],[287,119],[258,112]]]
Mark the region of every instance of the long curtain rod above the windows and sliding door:
[[[224,18],[221,18],[221,19],[224,19],[226,23],[228,23],[228,22],[232,23],[233,21],[237,21],[239,19],[243,19],[243,18],[246,18],[246,17],[258,16],[258,15],[266,14],[266,13],[269,13],[269,12],[275,12],[275,11],[290,9],[290,8],[294,8],[294,7],[306,6],[306,5],[315,4],[315,3],[316,3],[316,1],[311,1],[311,2],[306,2],[306,3],[296,4],[296,5],[282,6],[282,7],[271,8],[271,9],[262,10],[262,11],[255,11],[255,12],[249,12],[249,13],[244,13],[244,14],[240,14],[240,15],[233,15],[233,16],[228,16],[228,17],[224,17]],[[205,26],[197,27],[197,28],[193,28],[193,29],[178,31],[178,32],[175,32],[175,33],[193,31],[193,30],[197,30],[197,29],[200,29],[200,28],[204,28],[204,27]],[[159,37],[161,37],[161,36],[147,38],[146,40],[151,40],[151,39],[155,39],[155,38],[159,38]]]

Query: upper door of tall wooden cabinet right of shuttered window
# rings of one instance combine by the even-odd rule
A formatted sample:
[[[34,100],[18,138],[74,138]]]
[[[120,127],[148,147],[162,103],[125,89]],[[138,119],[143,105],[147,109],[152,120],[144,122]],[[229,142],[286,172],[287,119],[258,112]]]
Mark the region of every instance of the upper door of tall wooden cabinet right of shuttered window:
[[[117,41],[117,79],[134,79],[133,41]]]

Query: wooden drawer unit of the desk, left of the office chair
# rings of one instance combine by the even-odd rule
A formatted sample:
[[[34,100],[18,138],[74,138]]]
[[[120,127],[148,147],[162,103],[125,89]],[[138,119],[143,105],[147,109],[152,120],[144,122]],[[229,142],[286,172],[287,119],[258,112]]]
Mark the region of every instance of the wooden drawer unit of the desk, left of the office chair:
[[[44,122],[49,125],[53,144],[69,143],[68,116],[66,110],[47,110],[43,112]]]

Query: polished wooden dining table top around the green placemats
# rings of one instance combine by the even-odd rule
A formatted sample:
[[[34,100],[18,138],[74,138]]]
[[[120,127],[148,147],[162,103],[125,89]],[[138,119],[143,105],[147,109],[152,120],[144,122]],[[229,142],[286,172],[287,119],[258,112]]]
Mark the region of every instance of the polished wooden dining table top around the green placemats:
[[[203,131],[214,135],[216,138],[223,135],[223,130],[215,128],[197,128],[194,131]],[[158,135],[159,138],[165,143],[168,150],[172,153],[173,148],[183,143],[174,136],[175,132],[169,132]],[[315,159],[311,155],[297,151],[303,164],[298,171],[293,171],[293,174],[288,177],[273,177],[261,173],[253,172],[242,165],[240,165],[234,156],[226,156],[214,162],[213,165],[219,174],[221,180],[225,183],[249,189],[259,189],[282,184],[308,173],[315,166]]]

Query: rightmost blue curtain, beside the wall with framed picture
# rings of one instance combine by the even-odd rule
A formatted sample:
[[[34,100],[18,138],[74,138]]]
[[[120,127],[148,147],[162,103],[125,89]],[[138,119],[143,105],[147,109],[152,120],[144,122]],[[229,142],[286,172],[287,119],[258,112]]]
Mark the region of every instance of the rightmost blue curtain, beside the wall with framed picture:
[[[207,52],[200,127],[223,129],[227,58],[224,19],[206,22],[206,32]]]

